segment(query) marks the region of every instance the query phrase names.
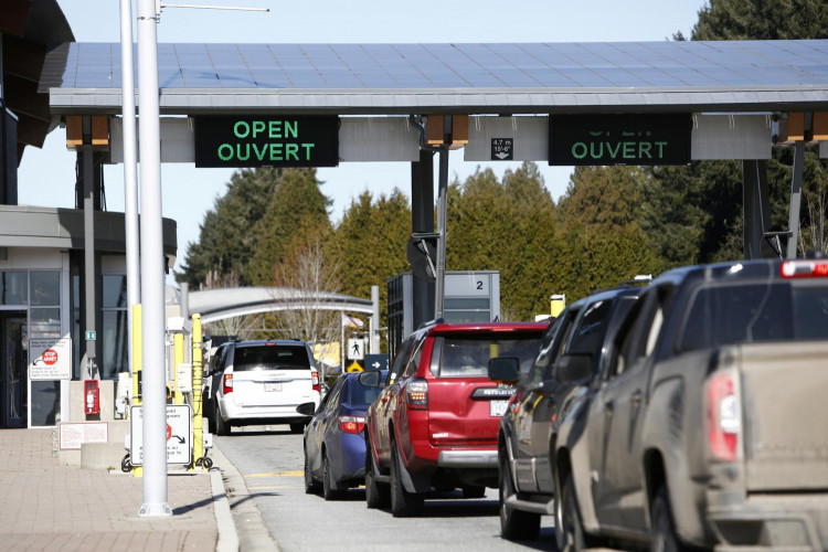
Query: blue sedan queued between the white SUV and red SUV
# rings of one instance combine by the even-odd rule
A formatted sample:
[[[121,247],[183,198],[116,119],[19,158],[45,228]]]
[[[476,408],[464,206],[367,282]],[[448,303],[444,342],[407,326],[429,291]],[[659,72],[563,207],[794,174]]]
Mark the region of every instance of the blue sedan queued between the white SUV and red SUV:
[[[340,375],[305,427],[305,492],[321,487],[326,500],[365,479],[365,411],[381,389],[362,385],[359,375]]]

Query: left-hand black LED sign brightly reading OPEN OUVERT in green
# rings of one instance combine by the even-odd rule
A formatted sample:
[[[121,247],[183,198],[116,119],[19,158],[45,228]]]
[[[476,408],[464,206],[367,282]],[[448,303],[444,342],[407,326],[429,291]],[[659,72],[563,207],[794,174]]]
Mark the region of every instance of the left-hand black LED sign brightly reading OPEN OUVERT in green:
[[[194,117],[195,167],[336,167],[337,116]]]

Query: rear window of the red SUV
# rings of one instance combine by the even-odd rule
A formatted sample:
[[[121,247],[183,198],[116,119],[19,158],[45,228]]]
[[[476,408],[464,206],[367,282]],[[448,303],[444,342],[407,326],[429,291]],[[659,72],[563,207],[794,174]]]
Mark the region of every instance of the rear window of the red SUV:
[[[514,337],[513,335],[510,337]],[[541,347],[541,336],[519,339],[498,339],[487,336],[442,337],[435,340],[432,353],[432,373],[440,378],[486,378],[489,359],[517,357],[520,372],[527,373]]]

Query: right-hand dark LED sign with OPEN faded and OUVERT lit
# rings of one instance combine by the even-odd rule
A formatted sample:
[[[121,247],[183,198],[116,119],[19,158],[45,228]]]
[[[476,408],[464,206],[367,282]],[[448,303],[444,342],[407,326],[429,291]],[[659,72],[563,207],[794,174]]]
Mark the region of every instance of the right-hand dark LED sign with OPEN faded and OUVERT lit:
[[[689,114],[554,115],[549,164],[688,164]]]

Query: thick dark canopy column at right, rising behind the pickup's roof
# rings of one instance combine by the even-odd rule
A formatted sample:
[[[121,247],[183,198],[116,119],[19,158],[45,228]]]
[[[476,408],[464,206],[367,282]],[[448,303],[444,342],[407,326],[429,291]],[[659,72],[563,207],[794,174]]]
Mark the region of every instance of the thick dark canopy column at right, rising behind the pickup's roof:
[[[771,205],[767,194],[767,161],[742,161],[742,194],[744,204],[743,247],[744,258],[768,256],[763,244],[765,232],[771,227]],[[769,244],[768,244],[769,246]],[[774,246],[775,247],[775,246]],[[778,256],[782,252],[777,251]]]

